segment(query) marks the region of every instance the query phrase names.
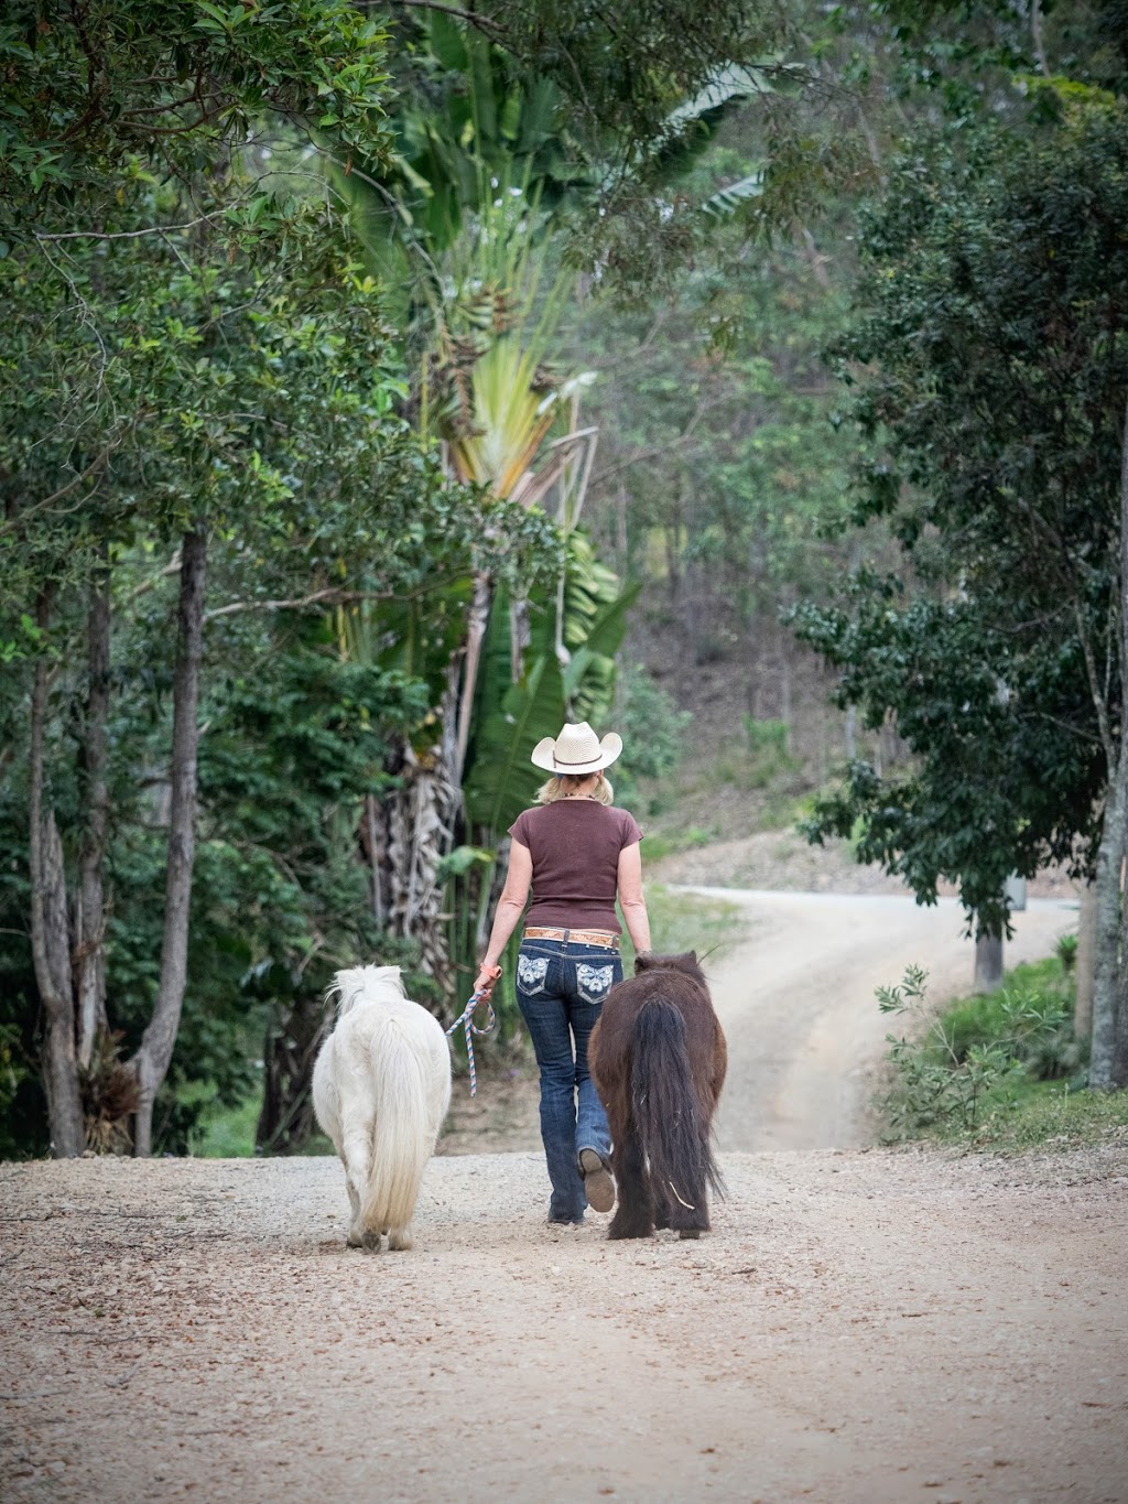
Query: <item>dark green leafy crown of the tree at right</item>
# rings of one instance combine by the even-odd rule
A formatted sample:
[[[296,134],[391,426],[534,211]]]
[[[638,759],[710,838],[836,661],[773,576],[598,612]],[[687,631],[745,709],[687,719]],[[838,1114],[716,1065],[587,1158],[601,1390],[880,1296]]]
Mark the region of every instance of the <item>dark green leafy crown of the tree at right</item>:
[[[892,714],[914,761],[856,764],[808,830],[860,820],[862,860],[925,901],[960,883],[999,932],[1008,872],[1090,869],[1119,717],[1128,117],[958,144],[904,162],[868,223],[841,347],[869,444],[857,520],[893,528],[901,569],[797,614],[839,704]]]

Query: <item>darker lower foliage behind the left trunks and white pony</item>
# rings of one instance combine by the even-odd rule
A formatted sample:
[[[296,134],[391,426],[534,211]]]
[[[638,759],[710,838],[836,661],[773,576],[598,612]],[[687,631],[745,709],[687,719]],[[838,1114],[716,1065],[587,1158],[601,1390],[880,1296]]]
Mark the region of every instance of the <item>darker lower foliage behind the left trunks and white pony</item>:
[[[146,597],[153,599],[150,594]],[[188,991],[177,1048],[158,1099],[158,1148],[182,1151],[209,1104],[230,1105],[257,1084],[266,1005],[316,1000],[332,970],[391,960],[371,914],[359,860],[358,812],[388,784],[390,737],[424,713],[426,686],[397,672],[343,662],[316,618],[274,630],[235,617],[212,638],[202,702],[200,812],[193,889]],[[165,830],[161,784],[167,735],[164,617],[120,623],[110,723],[114,833],[107,856],[110,1012],[125,1054],[149,1020],[159,975]],[[218,633],[218,626],[214,629]],[[131,654],[147,671],[131,672]],[[155,671],[155,672],[153,672]],[[75,686],[77,687],[77,686]],[[68,847],[77,836],[78,770],[60,737],[53,785]],[[152,784],[137,778],[153,770]],[[153,787],[155,785],[155,787]],[[8,881],[0,886],[0,994],[11,1023],[17,1090],[3,1104],[8,1154],[41,1145],[35,984],[26,931],[24,791],[0,812]],[[11,833],[11,835],[9,835]],[[400,948],[403,949],[403,948]],[[399,958],[399,957],[397,957]],[[411,952],[402,957],[411,969]],[[18,1030],[18,1033],[17,1033]],[[206,1090],[203,1090],[206,1087]]]

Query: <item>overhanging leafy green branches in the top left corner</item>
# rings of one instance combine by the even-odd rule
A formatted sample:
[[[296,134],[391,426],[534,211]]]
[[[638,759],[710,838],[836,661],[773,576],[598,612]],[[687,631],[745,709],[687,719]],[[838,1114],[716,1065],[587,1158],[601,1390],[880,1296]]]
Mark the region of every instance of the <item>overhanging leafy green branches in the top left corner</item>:
[[[0,236],[41,233],[90,194],[111,203],[129,182],[126,159],[149,159],[162,177],[199,173],[265,113],[332,129],[344,153],[382,155],[385,44],[387,30],[347,0],[92,0],[81,14],[11,0]]]

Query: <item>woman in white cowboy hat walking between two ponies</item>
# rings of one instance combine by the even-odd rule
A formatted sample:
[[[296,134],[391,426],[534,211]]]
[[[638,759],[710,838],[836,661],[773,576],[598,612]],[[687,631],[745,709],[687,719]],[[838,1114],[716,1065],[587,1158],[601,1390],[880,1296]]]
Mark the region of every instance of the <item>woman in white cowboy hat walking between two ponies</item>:
[[[615,1205],[608,1119],[588,1072],[588,1038],[603,999],[623,981],[615,898],[635,949],[650,951],[642,832],[626,809],[612,806],[603,776],[621,750],[614,731],[599,740],[587,720],[532,749],[532,763],[552,776],[537,808],[510,826],[510,869],[475,984],[489,990],[501,975],[498,957],[532,889],[517,955],[517,1005],[540,1068],[550,1223],[579,1223],[588,1205],[599,1212]]]

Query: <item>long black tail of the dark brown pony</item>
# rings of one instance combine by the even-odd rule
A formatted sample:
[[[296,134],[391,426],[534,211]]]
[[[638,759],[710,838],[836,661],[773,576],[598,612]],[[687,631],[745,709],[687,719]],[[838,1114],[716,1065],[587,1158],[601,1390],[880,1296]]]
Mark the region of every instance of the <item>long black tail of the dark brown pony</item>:
[[[630,1111],[650,1184],[669,1227],[708,1227],[707,1187],[725,1194],[693,1089],[686,1021],[651,997],[630,1036]]]

